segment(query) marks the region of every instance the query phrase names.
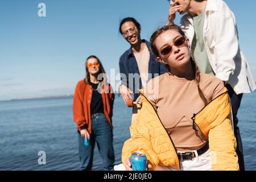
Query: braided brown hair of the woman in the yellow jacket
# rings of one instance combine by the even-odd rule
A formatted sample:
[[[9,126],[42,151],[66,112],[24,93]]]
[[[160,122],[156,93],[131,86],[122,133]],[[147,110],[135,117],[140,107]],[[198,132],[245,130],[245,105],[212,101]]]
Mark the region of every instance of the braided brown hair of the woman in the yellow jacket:
[[[156,30],[151,35],[151,38],[150,38],[150,49],[151,49],[151,52],[156,57],[160,57],[160,55],[159,55],[158,49],[156,49],[156,46],[155,46],[155,39],[160,34],[162,34],[163,32],[165,32],[167,30],[174,30],[174,31],[179,32],[180,35],[185,36],[184,32],[176,24],[169,24],[169,25],[163,26],[162,28],[159,28],[158,30]],[[200,82],[200,71],[199,71],[199,68],[197,67],[196,62],[192,59],[192,57],[190,58],[190,61],[191,61],[191,64],[192,64],[193,71],[195,72],[195,81],[196,81],[197,89],[198,89],[198,92],[199,92],[199,96],[203,100],[204,105],[206,106],[208,104],[207,98],[205,98],[205,96],[203,94],[203,91],[199,87],[199,82]],[[170,72],[171,69],[170,69],[168,64],[166,64],[166,67],[167,67],[168,71]]]

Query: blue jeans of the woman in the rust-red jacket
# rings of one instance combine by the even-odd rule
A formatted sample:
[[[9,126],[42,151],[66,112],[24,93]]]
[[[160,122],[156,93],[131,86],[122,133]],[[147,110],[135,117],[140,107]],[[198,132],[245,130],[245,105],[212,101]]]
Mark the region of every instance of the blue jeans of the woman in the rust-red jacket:
[[[114,167],[113,132],[103,113],[94,114],[92,117],[92,134],[89,146],[84,145],[84,138],[79,134],[79,159],[81,171],[90,171],[93,166],[93,151],[97,143],[102,159],[103,170],[110,171]]]

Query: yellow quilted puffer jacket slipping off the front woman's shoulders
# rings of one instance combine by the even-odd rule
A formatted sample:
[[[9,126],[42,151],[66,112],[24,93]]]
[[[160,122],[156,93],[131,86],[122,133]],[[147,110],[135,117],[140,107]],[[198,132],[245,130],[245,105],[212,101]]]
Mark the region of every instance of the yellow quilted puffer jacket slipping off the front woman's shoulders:
[[[238,170],[236,138],[229,119],[229,96],[226,88],[223,91],[199,113],[194,114],[193,121],[209,139],[212,170]],[[143,105],[137,120],[130,126],[131,138],[123,144],[122,163],[126,164],[125,160],[131,153],[141,151],[152,164],[150,170],[158,165],[180,169],[176,148],[170,136],[154,107],[143,96],[143,89],[140,92]]]

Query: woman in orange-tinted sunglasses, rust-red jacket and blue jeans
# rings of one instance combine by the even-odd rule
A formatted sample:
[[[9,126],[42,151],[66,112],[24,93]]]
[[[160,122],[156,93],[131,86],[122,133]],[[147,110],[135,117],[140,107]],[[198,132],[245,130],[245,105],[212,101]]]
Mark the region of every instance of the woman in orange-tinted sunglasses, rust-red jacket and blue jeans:
[[[85,62],[86,76],[78,82],[73,99],[73,117],[79,133],[80,170],[91,170],[95,143],[104,170],[113,170],[112,111],[114,93],[105,77],[101,61],[89,56]]]

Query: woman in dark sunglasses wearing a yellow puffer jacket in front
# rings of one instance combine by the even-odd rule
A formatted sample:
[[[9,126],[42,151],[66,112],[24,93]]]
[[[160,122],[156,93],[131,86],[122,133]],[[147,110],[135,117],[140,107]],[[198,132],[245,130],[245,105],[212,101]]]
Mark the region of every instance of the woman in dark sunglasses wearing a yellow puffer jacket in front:
[[[141,113],[122,150],[127,170],[134,151],[146,154],[151,170],[238,170],[227,89],[199,72],[189,47],[174,24],[152,34],[151,51],[168,73],[140,90]]]

